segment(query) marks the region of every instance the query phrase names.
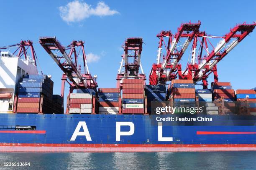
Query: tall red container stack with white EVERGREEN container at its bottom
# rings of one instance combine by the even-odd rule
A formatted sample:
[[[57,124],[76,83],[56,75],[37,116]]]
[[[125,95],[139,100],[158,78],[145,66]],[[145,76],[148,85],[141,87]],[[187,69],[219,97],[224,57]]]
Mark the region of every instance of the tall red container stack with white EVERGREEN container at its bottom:
[[[123,79],[123,114],[144,113],[144,80]]]

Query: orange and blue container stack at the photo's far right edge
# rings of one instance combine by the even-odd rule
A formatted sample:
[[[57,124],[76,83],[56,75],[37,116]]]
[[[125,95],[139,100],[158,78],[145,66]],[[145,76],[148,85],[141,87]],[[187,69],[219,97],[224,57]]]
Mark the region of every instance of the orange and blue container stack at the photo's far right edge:
[[[256,90],[236,90],[236,100],[249,102],[251,115],[256,115]]]

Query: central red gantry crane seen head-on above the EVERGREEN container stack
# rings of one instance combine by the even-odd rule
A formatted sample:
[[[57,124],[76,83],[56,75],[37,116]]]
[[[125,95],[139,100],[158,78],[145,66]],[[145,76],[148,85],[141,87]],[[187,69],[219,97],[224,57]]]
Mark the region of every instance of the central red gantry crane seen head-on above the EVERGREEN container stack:
[[[122,87],[122,79],[143,79],[146,80],[146,75],[143,72],[141,65],[141,51],[142,51],[142,38],[132,37],[125,40],[124,53],[122,55],[122,61],[120,62],[120,68],[118,70],[117,88]],[[125,68],[125,69],[123,69]],[[141,74],[139,73],[141,69]]]

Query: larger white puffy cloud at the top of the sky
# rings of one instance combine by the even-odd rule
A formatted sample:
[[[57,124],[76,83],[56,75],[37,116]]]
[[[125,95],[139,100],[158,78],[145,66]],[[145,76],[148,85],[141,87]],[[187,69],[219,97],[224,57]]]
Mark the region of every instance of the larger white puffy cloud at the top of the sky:
[[[89,18],[91,15],[107,16],[119,13],[116,10],[110,10],[110,7],[105,2],[98,2],[96,8],[93,8],[91,5],[79,0],[74,0],[65,6],[59,7],[59,11],[62,20],[67,23],[79,22]]]

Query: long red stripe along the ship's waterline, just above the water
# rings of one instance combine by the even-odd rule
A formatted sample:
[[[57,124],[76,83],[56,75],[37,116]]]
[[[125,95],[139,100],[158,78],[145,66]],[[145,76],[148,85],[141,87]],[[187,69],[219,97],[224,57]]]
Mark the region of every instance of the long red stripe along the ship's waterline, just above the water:
[[[40,144],[0,143],[1,152],[204,152],[256,151],[255,144]]]

